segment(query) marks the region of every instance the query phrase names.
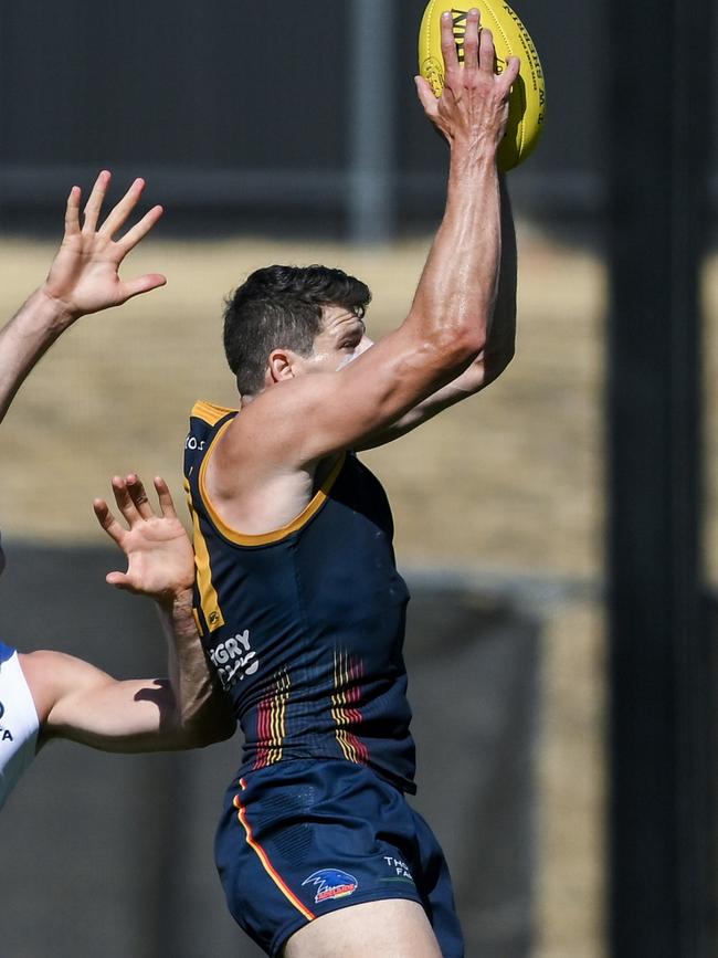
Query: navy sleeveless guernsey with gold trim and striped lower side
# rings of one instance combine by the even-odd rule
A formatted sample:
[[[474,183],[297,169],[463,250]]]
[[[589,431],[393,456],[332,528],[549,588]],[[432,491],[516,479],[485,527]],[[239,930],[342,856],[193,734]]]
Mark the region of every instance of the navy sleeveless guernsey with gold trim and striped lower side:
[[[184,486],[198,628],[244,733],[240,775],[344,758],[413,793],[402,657],[409,591],[395,568],[386,493],[347,453],[293,523],[242,535],[222,522],[203,482],[235,415],[194,406]]]

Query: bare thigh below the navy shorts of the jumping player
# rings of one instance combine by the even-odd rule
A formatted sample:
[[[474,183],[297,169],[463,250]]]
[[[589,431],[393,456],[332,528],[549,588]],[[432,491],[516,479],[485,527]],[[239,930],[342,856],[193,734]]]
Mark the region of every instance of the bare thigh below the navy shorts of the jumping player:
[[[366,902],[315,918],[296,931],[284,958],[442,958],[421,905]]]

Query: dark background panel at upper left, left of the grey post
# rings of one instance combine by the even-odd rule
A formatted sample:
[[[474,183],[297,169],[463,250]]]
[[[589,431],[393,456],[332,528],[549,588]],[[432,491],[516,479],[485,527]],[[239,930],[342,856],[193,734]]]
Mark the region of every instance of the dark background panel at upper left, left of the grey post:
[[[345,3],[46,4],[2,11],[3,164],[336,169]]]

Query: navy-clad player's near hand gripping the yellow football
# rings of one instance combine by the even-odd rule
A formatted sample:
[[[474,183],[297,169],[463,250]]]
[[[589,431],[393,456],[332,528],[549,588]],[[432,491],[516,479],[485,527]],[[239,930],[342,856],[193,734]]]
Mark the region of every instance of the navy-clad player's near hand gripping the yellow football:
[[[495,154],[506,131],[508,99],[519,74],[519,59],[509,56],[504,72],[494,72],[494,38],[489,30],[481,29],[476,9],[469,10],[466,18],[463,65],[451,12],[442,14],[441,34],[445,66],[442,95],[436,98],[424,77],[415,78],[424,112],[451,144]]]

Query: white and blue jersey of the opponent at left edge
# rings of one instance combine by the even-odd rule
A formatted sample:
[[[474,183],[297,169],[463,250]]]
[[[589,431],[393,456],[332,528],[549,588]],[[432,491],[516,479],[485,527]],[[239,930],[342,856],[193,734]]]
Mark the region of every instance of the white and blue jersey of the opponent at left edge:
[[[35,757],[39,729],[18,653],[0,642],[0,808]]]

